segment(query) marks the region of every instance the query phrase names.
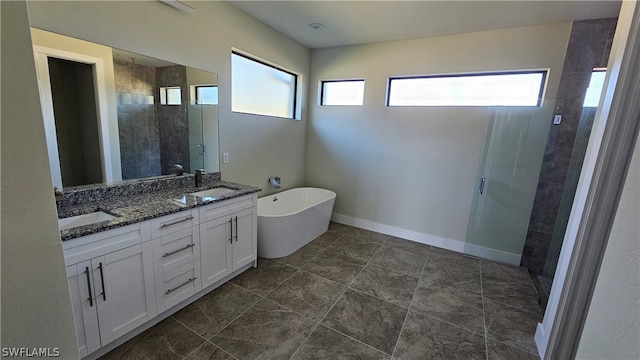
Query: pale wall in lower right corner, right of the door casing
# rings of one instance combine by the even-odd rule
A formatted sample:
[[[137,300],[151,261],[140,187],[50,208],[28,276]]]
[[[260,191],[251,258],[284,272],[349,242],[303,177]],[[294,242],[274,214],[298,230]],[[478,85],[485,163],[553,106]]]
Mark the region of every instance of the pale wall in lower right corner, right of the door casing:
[[[640,358],[640,143],[622,190],[578,359]]]

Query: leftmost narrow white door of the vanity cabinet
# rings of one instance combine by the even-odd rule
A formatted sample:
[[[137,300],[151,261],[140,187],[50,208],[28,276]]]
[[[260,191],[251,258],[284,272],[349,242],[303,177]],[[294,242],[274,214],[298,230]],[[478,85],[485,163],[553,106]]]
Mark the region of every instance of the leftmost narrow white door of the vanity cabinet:
[[[73,321],[76,326],[80,357],[100,347],[98,312],[91,277],[91,263],[85,261],[67,266],[67,281],[71,295]]]

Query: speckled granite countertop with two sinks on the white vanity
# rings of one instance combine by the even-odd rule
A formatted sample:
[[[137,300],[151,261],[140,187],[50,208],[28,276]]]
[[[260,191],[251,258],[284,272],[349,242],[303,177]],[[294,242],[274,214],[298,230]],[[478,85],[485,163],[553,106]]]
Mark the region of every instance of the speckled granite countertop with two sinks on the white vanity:
[[[233,192],[216,196],[215,198],[207,198],[203,200],[200,197],[189,195],[189,193],[209,190],[218,187],[233,189]],[[109,192],[111,189],[102,187],[97,191]],[[68,203],[63,206],[58,205],[58,218],[67,218],[71,216],[92,213],[95,211],[103,211],[115,216],[114,219],[102,221],[96,224],[84,225],[65,229],[60,231],[62,241],[75,239],[81,236],[95,234],[130,224],[135,224],[149,219],[158,218],[164,215],[185,211],[198,206],[218,203],[227,199],[236,198],[248,194],[253,194],[261,189],[254,186],[242,185],[223,180],[214,179],[207,182],[204,186],[195,187],[193,183],[184,183],[174,188],[162,188],[155,191],[145,191],[137,194],[122,193],[116,196],[97,196],[100,199],[92,201],[93,193],[85,195],[89,197],[87,201],[77,203]],[[65,190],[65,194],[67,191]],[[102,194],[101,194],[102,195]],[[179,199],[180,201],[175,201]]]

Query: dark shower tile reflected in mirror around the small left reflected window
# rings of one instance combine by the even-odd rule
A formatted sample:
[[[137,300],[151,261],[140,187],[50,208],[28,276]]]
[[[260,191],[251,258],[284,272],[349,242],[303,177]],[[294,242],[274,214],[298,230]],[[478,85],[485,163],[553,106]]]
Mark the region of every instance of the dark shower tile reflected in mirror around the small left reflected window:
[[[160,105],[156,101],[158,123],[160,124],[160,154],[162,174],[171,174],[175,164],[189,171],[189,117],[187,116],[189,89],[187,69],[181,65],[156,69],[156,85],[180,86],[182,105]],[[158,99],[156,99],[158,100]]]

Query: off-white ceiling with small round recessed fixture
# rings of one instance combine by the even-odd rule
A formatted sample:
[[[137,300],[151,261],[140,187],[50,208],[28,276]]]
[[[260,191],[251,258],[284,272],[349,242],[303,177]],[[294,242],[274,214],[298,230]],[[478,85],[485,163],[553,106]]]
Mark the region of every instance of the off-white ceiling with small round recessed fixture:
[[[620,1],[228,1],[311,49],[618,16]],[[309,24],[323,24],[314,30]]]

